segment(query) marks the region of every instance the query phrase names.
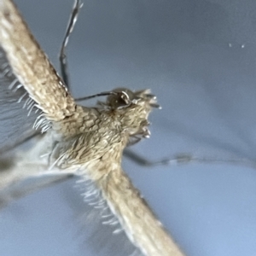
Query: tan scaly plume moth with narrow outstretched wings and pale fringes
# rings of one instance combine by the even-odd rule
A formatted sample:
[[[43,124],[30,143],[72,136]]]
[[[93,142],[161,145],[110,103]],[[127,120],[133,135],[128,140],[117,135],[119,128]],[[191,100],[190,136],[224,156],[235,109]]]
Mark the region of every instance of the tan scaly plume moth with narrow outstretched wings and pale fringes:
[[[121,167],[124,148],[149,136],[148,114],[158,108],[156,97],[150,90],[118,88],[96,95],[108,96],[107,101],[86,108],[68,90],[64,48],[80,7],[81,3],[75,1],[61,49],[61,79],[15,4],[0,3],[0,44],[3,58],[9,62],[3,73],[13,79],[10,90],[26,90],[19,101],[26,97],[28,115],[33,108],[39,112],[33,127],[44,134],[38,145],[26,156],[21,154],[20,162],[7,172],[20,169],[28,177],[47,171],[79,175],[87,187],[84,200],[102,211],[102,218],[107,218],[103,223],[119,224],[114,233],[125,231],[144,255],[182,255]],[[3,178],[3,186],[18,178]]]

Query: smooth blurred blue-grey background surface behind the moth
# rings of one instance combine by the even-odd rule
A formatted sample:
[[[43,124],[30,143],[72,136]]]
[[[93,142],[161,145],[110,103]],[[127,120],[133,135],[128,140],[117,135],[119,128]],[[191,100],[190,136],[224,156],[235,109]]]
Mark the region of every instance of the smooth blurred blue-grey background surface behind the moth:
[[[57,67],[73,1],[16,3]],[[73,95],[151,88],[163,109],[150,116],[152,137],[134,147],[150,160],[180,152],[254,160],[255,32],[250,0],[84,1],[68,48]],[[216,163],[148,168],[130,160],[124,168],[187,255],[256,255],[255,169]],[[0,255],[112,255],[97,244],[100,234],[88,239],[73,183],[5,208]]]

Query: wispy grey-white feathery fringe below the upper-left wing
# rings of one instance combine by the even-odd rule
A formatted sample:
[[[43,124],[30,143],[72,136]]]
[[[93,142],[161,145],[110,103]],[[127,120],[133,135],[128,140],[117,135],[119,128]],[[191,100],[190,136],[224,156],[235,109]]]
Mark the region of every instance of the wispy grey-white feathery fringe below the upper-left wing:
[[[0,48],[0,154],[38,133],[32,129],[39,115],[33,104]]]

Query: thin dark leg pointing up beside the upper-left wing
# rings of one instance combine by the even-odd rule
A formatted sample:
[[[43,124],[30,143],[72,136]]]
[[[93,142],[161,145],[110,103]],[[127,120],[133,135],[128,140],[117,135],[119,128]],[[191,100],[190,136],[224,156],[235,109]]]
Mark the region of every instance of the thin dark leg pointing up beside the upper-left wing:
[[[73,28],[78,20],[79,9],[81,9],[82,6],[83,6],[83,3],[81,3],[79,0],[74,1],[73,10],[70,15],[69,21],[67,23],[67,31],[65,33],[65,37],[61,44],[61,51],[60,51],[60,56],[59,56],[59,60],[60,60],[60,64],[61,64],[61,76],[62,76],[62,79],[64,80],[68,89],[70,89],[70,85],[69,85],[68,70],[67,70],[68,69],[67,68],[67,55],[65,52],[66,52],[66,48],[67,48],[68,39],[69,39],[71,33],[73,32]]]

